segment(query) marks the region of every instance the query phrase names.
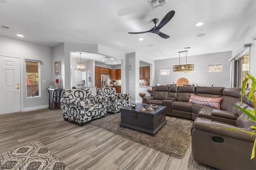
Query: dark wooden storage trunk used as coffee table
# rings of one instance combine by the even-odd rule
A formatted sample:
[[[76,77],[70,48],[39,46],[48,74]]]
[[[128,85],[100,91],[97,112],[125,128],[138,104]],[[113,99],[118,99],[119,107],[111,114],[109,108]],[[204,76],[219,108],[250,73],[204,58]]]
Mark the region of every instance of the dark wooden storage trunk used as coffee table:
[[[158,106],[154,110],[147,110],[149,105],[144,106],[145,111],[140,111],[142,104],[136,107],[126,106],[121,108],[121,127],[128,127],[155,136],[156,133],[166,124],[164,110],[166,106]]]

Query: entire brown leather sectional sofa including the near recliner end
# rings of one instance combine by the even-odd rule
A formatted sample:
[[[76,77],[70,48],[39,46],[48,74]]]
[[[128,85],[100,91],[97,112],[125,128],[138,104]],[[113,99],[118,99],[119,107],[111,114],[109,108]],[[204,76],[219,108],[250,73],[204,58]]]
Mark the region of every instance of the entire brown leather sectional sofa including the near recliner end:
[[[220,109],[189,103],[191,94],[222,98]],[[146,96],[144,102],[149,104],[148,99],[149,96]],[[255,125],[241,119],[248,117],[234,106],[236,104],[244,109],[254,109],[246,97],[243,97],[241,103],[241,88],[155,86],[151,104],[166,106],[166,115],[194,120],[191,127],[192,153],[197,162],[219,169],[256,169],[255,158],[250,160],[256,136],[226,129],[233,127],[252,131],[250,126]]]

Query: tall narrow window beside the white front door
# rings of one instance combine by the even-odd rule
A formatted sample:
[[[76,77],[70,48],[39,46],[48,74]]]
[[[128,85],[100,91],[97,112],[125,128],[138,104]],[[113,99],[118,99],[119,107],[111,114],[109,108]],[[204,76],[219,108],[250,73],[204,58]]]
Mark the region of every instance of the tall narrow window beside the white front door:
[[[26,62],[26,87],[27,97],[40,96],[40,63],[37,61]]]

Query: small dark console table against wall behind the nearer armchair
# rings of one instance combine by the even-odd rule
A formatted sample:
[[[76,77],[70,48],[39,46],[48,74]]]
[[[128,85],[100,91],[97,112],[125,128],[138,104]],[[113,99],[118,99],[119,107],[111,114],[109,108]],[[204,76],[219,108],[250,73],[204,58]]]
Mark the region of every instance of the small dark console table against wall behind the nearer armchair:
[[[62,89],[48,88],[49,106],[48,109],[60,109],[60,96]]]

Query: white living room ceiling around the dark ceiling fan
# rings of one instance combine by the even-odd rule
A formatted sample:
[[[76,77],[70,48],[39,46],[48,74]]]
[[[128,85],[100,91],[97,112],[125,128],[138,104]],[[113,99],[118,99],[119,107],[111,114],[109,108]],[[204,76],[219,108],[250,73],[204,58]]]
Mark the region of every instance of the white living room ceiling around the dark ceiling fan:
[[[53,47],[62,42],[100,44],[124,53],[140,52],[153,60],[232,51],[256,21],[256,0],[168,0],[153,9],[148,0],[0,0],[0,35]],[[171,10],[161,31],[147,31]],[[196,23],[204,25],[196,27]],[[25,37],[17,37],[20,33]],[[197,36],[205,34],[204,36]],[[142,37],[144,41],[138,41]],[[148,47],[148,45],[154,45]]]

